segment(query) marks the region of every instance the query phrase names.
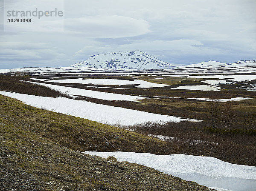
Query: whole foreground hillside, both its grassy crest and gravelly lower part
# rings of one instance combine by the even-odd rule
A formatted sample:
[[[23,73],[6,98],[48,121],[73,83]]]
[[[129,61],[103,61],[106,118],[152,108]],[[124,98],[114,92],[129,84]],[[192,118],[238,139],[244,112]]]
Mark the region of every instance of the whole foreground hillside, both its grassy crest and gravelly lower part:
[[[152,168],[79,152],[157,153],[157,148],[166,144],[116,127],[31,107],[0,95],[0,190],[3,191],[208,191],[195,182],[180,180]]]

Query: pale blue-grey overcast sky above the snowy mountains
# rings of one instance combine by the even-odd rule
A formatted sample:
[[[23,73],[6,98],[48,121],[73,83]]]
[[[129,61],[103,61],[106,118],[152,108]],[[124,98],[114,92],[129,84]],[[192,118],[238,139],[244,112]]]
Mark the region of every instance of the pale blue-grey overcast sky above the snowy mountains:
[[[134,50],[176,65],[256,59],[256,0],[65,0],[64,31],[27,32],[3,30],[0,2],[0,68],[70,66]]]

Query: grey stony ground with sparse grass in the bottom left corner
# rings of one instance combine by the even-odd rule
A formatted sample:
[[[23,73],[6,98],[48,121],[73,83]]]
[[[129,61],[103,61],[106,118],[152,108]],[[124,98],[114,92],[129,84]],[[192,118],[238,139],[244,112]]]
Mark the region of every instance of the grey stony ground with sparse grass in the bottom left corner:
[[[4,143],[2,137],[0,190],[3,191],[209,191],[195,182],[152,168],[86,155],[55,143],[30,140],[31,147],[17,144],[18,153]]]

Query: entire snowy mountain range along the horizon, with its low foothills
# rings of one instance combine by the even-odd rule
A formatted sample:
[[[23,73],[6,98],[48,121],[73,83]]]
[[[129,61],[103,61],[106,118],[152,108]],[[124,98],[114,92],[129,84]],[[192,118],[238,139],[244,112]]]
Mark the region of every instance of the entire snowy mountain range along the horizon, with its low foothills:
[[[109,58],[108,60],[105,60]],[[115,56],[115,60],[112,56]],[[117,58],[118,57],[118,58]],[[112,59],[112,60],[111,60]],[[98,62],[99,61],[99,62]],[[256,60],[240,60],[235,63],[221,63],[216,61],[201,62],[185,66],[174,66],[158,60],[142,51],[116,52],[112,54],[98,54],[88,60],[76,63],[70,67],[40,67],[40,68],[12,68],[0,69],[0,73],[102,73],[102,72],[178,72],[178,73],[211,73],[211,72],[242,72],[256,73]]]

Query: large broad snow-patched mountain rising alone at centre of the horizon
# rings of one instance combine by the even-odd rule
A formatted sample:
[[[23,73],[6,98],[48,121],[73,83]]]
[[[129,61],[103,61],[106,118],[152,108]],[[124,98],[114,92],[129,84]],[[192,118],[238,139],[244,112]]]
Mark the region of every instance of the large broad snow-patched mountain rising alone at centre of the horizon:
[[[111,68],[111,69],[165,69],[177,68],[143,51],[96,54],[70,67]]]

